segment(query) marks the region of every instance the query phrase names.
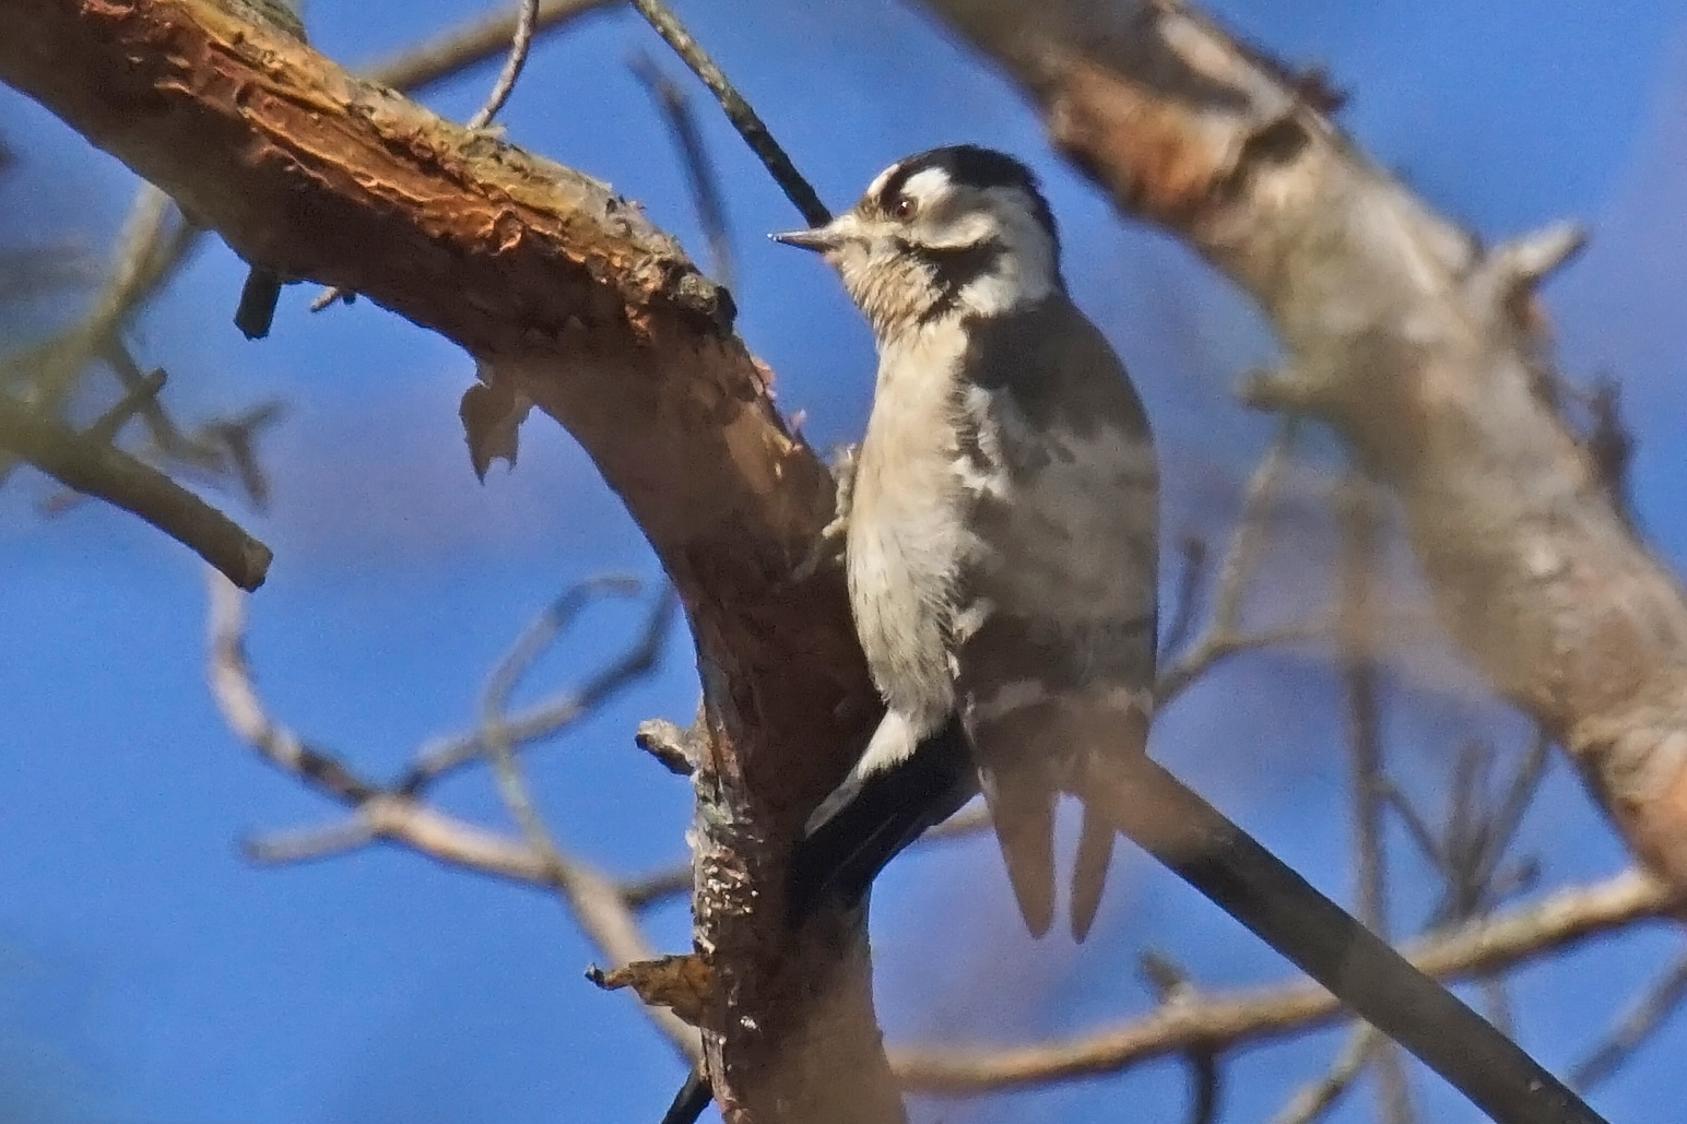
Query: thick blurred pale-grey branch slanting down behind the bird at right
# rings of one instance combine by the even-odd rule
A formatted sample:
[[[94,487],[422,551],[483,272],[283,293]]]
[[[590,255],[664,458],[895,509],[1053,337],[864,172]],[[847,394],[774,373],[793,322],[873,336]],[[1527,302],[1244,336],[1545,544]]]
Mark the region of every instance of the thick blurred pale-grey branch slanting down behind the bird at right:
[[[1687,884],[1687,603],[1554,407],[1532,305],[1571,228],[1485,248],[1360,155],[1314,81],[1171,0],[926,0],[1053,143],[1270,316],[1257,405],[1334,427],[1400,498],[1442,619]]]

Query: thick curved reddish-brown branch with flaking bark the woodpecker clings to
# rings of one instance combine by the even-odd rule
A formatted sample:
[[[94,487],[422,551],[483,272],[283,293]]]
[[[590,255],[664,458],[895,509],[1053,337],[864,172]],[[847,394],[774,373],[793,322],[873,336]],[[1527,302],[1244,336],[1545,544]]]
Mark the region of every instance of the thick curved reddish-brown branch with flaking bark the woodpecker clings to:
[[[697,638],[697,937],[720,981],[707,1029],[727,1119],[901,1119],[860,928],[784,933],[793,832],[877,702],[840,579],[788,579],[832,483],[783,427],[725,290],[606,184],[202,0],[0,0],[0,79],[243,257],[461,343],[585,446]]]

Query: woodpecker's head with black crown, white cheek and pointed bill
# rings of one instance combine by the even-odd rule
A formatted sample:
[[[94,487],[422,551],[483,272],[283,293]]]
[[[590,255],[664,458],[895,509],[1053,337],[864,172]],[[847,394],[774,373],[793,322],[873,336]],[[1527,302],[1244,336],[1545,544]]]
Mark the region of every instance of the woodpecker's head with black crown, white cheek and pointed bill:
[[[897,160],[844,214],[774,240],[822,253],[881,341],[1061,289],[1059,236],[1036,176],[977,145]]]

